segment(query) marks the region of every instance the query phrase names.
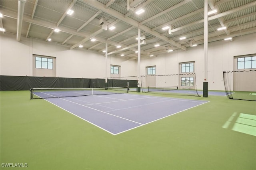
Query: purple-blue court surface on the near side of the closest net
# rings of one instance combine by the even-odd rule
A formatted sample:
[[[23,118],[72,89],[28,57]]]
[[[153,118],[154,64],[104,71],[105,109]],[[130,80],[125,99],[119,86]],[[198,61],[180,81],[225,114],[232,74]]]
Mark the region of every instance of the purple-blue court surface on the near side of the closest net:
[[[114,135],[208,102],[128,93],[46,100]]]

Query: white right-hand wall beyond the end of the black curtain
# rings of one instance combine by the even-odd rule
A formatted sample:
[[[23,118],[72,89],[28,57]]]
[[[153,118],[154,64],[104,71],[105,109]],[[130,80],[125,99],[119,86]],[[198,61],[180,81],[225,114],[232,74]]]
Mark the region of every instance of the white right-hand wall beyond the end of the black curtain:
[[[234,56],[256,53],[256,34],[235,37],[233,41],[218,41],[208,44],[208,89],[225,90],[223,71],[234,70]],[[204,82],[204,45],[189,47],[170,53],[141,59],[140,73],[145,68],[156,65],[156,75],[178,74],[178,63],[195,61],[197,89],[203,89]]]

